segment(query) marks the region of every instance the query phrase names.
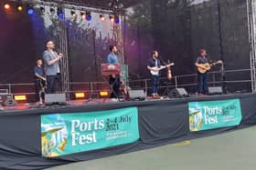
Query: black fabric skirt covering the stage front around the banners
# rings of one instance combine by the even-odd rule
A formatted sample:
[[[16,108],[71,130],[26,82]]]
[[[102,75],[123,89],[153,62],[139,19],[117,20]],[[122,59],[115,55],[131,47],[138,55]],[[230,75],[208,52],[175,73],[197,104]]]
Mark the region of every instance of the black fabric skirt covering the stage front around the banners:
[[[242,121],[238,126],[214,130],[189,132],[189,101],[211,101],[240,98]],[[158,145],[181,142],[207,135],[239,129],[256,123],[256,95],[223,95],[216,97],[187,98],[164,101],[126,102],[117,104],[59,106],[30,109],[20,112],[3,112],[0,115],[0,167],[3,169],[42,169],[54,165],[96,159],[142,150]],[[41,157],[40,115],[80,113],[137,106],[139,109],[140,140],[129,145],[64,155],[56,158]]]

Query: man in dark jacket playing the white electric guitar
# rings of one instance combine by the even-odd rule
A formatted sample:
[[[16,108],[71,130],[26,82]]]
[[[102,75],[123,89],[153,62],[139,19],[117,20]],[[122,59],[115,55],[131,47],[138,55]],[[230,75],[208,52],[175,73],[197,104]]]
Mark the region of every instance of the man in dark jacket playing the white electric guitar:
[[[152,81],[152,97],[154,99],[160,99],[161,96],[157,94],[157,89],[159,85],[159,69],[161,68],[161,62],[158,58],[158,52],[153,51],[152,57],[149,59],[147,69],[151,73]]]

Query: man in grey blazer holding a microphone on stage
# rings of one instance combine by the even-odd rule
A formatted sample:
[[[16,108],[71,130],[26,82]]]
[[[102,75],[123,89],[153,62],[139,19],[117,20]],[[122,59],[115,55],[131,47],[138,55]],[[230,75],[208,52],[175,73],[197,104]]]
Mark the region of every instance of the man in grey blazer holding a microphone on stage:
[[[47,93],[55,94],[56,86],[59,80],[59,60],[63,57],[62,54],[59,54],[54,50],[55,44],[53,41],[47,42],[47,48],[43,54],[43,58],[46,64],[46,75],[47,75]]]

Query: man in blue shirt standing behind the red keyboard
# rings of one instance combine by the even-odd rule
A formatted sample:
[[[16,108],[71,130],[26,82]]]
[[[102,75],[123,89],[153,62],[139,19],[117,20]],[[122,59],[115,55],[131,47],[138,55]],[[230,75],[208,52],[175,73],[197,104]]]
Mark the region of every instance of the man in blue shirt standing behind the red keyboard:
[[[117,57],[117,47],[114,45],[110,45],[111,53],[107,57],[107,61],[109,64],[119,64]],[[117,101],[119,96],[119,87],[120,87],[120,76],[119,75],[111,75],[109,84],[112,86],[112,101]]]

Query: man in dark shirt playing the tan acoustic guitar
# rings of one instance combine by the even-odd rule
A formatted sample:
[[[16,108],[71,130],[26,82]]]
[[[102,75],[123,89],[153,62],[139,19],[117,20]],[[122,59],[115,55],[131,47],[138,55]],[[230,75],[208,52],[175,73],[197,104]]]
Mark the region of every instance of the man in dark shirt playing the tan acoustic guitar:
[[[199,56],[197,57],[196,66],[197,68],[204,69],[204,64],[209,63],[209,58],[207,57],[206,49],[199,50]],[[197,81],[198,81],[198,95],[208,95],[208,71],[206,73],[200,73],[197,71]]]

